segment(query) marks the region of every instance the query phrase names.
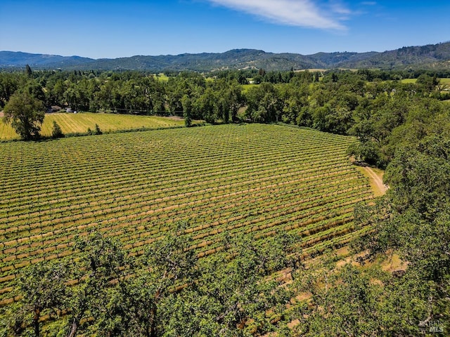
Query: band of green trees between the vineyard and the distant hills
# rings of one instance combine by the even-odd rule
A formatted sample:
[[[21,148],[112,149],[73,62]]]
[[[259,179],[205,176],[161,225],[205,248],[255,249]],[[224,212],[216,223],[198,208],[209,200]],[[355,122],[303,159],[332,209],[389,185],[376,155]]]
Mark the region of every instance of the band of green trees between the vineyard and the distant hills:
[[[248,75],[259,84],[243,86]],[[416,83],[402,83],[397,73],[375,70],[320,74],[247,70],[217,72],[212,79],[181,72],[162,80],[144,72],[33,72],[27,68],[25,73],[0,73],[0,108],[8,117],[10,100],[10,105],[16,105],[18,100],[33,98],[34,111],[41,112],[70,107],[86,112],[176,115],[185,117],[188,126],[192,119],[282,122],[369,139],[354,154],[385,166],[392,153],[383,135],[421,107],[432,104],[444,110],[439,101],[450,98],[437,74],[416,75]],[[43,118],[39,114],[36,125],[30,123],[30,138]]]

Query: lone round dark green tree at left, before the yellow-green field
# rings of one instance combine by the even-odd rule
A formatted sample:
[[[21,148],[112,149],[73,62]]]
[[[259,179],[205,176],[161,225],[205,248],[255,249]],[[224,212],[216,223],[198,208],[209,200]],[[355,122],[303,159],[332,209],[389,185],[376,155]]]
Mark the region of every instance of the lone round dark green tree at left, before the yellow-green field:
[[[25,140],[39,138],[44,117],[44,103],[26,91],[14,93],[4,109],[5,123]]]

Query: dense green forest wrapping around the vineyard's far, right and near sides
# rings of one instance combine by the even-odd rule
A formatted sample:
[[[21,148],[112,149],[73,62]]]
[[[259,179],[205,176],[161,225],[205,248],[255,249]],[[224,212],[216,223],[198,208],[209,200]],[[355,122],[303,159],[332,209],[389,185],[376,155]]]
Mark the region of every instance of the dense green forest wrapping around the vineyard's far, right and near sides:
[[[348,153],[385,168],[390,186],[375,204],[354,211],[356,226],[372,228],[352,243],[358,265],[337,268],[333,251],[318,265],[304,265],[290,237],[262,246],[249,238],[224,237],[226,249],[205,265],[186,249],[188,238],[176,234],[151,247],[142,260],[128,260],[118,242],[94,235],[77,243],[86,252],[81,260],[37,264],[23,276],[18,291],[24,300],[1,314],[8,321],[2,324],[5,336],[27,329],[30,336],[40,336],[41,312],[51,310],[56,317],[59,308],[72,308],[54,323],[53,331],[63,336],[94,331],[99,336],[448,333],[450,95],[439,81],[446,74],[249,70],[218,72],[212,79],[191,72],[169,75],[3,72],[0,106],[23,91],[47,109],[173,114],[209,123],[279,122],[356,136],[359,142]],[[417,80],[402,82],[406,77]],[[405,267],[386,272],[383,261],[393,256]],[[153,267],[126,277],[124,270],[135,264]],[[286,268],[292,277],[288,285],[268,277]],[[77,291],[68,290],[69,279],[78,279]],[[306,300],[293,305],[298,293]]]

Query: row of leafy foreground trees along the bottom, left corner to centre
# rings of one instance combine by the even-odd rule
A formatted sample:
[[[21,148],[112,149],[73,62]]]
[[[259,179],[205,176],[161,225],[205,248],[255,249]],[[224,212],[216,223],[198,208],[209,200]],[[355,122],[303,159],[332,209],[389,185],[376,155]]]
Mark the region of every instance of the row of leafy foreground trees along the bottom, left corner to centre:
[[[252,336],[275,329],[293,293],[269,275],[297,268],[286,255],[294,238],[224,237],[224,249],[199,261],[185,230],[179,225],[141,258],[95,232],[78,239],[79,259],[24,272],[18,286],[23,299],[2,312],[2,333],[42,336],[53,333],[53,325],[70,337]],[[69,288],[69,280],[78,283]],[[69,311],[44,333],[40,317],[56,318],[61,310]]]

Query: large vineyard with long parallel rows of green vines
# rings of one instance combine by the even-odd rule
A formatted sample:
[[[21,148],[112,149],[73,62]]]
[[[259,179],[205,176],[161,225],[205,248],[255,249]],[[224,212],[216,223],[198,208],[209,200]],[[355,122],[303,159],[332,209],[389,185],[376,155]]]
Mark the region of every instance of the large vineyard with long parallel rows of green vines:
[[[74,258],[91,230],[131,254],[180,221],[198,256],[224,232],[295,233],[305,254],[347,242],[354,205],[373,197],[352,141],[250,124],[0,143],[0,303],[21,268]]]

